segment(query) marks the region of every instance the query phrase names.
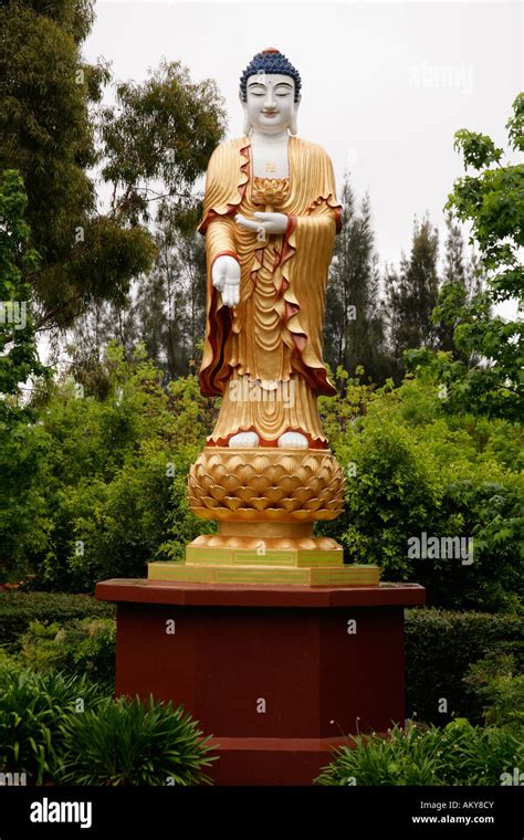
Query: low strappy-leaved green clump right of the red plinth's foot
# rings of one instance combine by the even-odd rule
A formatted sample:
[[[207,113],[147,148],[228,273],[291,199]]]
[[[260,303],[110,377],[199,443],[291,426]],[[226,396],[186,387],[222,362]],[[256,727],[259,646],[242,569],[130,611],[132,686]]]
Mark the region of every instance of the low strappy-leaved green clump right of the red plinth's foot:
[[[318,785],[500,785],[524,758],[521,741],[457,718],[444,728],[395,726],[389,738],[349,736],[315,779]],[[521,764],[522,766],[522,764]]]

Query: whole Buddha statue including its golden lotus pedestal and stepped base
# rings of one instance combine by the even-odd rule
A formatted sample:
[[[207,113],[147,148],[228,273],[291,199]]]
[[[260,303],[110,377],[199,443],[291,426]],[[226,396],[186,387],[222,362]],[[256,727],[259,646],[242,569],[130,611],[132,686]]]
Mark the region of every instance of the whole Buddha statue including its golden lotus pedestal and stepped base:
[[[186,547],[185,563],[150,563],[150,580],[378,584],[378,567],[344,565],[342,546],[313,532],[344,507],[317,409],[318,395],[336,393],[322,328],[342,207],[328,155],[296,135],[300,99],[285,55],[255,55],[240,80],[244,134],[209,161],[200,389],[222,402],[190,468],[188,502],[218,528]]]

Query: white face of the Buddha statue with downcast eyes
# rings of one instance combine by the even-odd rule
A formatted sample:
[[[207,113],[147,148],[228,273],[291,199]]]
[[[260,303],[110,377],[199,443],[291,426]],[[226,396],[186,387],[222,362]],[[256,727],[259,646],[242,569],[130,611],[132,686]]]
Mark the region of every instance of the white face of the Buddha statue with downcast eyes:
[[[248,78],[247,111],[250,125],[261,134],[281,134],[289,128],[294,113],[295,83],[280,73],[258,73]]]

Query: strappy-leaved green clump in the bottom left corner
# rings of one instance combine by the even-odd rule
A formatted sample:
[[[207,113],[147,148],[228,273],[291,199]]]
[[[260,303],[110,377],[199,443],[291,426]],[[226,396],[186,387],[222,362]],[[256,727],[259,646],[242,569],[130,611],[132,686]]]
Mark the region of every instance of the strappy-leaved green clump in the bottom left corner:
[[[62,724],[94,708],[102,695],[85,676],[34,673],[0,661],[0,767],[27,773],[35,783],[52,777],[63,750]]]

